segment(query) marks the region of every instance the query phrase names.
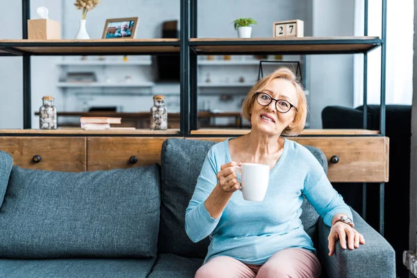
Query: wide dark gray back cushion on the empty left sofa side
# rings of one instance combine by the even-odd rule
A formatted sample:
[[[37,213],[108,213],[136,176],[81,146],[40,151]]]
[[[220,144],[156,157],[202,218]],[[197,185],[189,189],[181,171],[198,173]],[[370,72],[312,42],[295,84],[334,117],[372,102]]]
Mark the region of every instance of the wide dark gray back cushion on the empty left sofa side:
[[[0,208],[0,257],[156,256],[159,166],[95,172],[14,166]]]

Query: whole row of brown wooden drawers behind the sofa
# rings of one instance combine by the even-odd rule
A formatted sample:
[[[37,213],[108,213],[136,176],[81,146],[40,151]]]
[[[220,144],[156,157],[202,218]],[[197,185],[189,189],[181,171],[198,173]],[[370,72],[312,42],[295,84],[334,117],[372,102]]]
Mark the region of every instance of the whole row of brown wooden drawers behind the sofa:
[[[0,149],[15,165],[67,172],[161,164],[163,142],[172,137],[0,137]],[[220,142],[226,138],[194,138]],[[389,181],[389,138],[366,136],[295,137],[325,153],[332,182]],[[38,161],[40,158],[40,161]],[[35,162],[38,161],[38,162]]]

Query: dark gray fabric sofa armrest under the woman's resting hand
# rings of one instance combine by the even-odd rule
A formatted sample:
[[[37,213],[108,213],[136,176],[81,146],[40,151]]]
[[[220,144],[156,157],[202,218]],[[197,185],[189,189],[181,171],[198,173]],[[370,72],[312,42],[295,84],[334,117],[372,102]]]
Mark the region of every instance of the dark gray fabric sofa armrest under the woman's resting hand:
[[[355,250],[343,250],[339,241],[336,250],[329,256],[328,227],[318,221],[318,257],[323,272],[329,277],[395,277],[395,252],[393,247],[375,229],[369,226],[352,208],[355,228],[365,238],[365,245]]]

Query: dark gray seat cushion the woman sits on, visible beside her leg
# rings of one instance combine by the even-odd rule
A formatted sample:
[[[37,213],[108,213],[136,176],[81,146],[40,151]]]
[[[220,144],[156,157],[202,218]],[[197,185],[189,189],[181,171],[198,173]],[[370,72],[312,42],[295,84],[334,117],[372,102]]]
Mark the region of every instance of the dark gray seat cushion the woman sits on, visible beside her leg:
[[[174,254],[158,254],[149,278],[194,278],[203,259],[186,258]]]

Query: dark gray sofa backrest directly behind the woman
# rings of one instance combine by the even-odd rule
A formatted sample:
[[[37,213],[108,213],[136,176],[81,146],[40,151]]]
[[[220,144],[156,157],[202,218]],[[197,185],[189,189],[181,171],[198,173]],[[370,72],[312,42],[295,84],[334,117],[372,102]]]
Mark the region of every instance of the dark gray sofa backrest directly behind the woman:
[[[226,138],[225,138],[226,140]],[[208,238],[193,243],[185,231],[185,213],[208,150],[216,142],[167,139],[161,152],[161,224],[158,252],[204,259]],[[316,147],[306,146],[327,172],[327,159]],[[306,199],[301,220],[306,232],[316,239],[318,214]]]

